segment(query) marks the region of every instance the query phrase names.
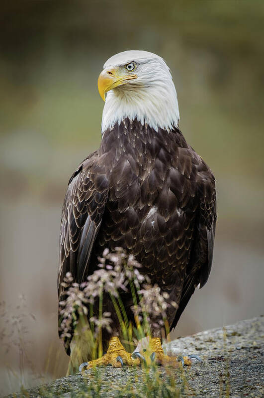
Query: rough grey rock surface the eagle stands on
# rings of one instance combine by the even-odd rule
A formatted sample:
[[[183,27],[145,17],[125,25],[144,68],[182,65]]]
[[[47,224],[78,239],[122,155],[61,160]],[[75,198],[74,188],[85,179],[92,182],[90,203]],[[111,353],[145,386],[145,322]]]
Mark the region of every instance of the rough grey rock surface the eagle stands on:
[[[193,362],[190,368],[176,373],[176,390],[165,397],[264,397],[264,317],[238,322],[225,328],[217,328],[179,338],[169,345],[172,354],[196,354],[202,363]],[[159,374],[167,383],[168,370],[159,368]],[[159,397],[155,389],[140,391],[146,386],[146,377],[155,374],[141,368],[100,368],[58,379],[49,385],[27,390],[8,397]],[[99,380],[99,381],[98,381]],[[129,386],[129,387],[128,387]],[[97,389],[98,387],[98,389]],[[137,394],[128,390],[136,389]],[[97,391],[96,391],[97,389]],[[147,392],[146,392],[147,391]],[[176,391],[176,392],[175,392]]]

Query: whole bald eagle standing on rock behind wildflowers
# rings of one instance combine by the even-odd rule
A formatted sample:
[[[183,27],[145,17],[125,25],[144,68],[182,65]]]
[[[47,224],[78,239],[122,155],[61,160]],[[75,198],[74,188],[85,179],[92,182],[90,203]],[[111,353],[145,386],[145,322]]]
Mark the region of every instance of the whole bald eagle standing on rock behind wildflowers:
[[[105,248],[121,247],[177,303],[167,314],[172,329],[211,270],[215,179],[179,130],[176,89],[163,58],[146,51],[116,54],[104,64],[98,90],[105,101],[100,147],[73,173],[62,208],[59,300],[67,272],[82,283]],[[129,316],[131,300],[125,297]],[[160,326],[151,326],[152,350],[166,362]],[[108,356],[98,364],[119,367],[117,356],[139,363],[125,352],[119,334],[116,322],[104,336]],[[82,335],[65,340],[74,368],[90,360],[86,346]]]

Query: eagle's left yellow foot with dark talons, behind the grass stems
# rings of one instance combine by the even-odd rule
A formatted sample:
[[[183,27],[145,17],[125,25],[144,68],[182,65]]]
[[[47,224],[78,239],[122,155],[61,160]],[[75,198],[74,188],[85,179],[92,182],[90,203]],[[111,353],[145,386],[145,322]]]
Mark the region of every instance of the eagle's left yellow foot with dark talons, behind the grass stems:
[[[94,366],[106,365],[112,365],[114,368],[121,368],[124,364],[129,366],[139,366],[140,361],[138,358],[133,358],[132,354],[126,352],[118,337],[112,337],[109,341],[106,354],[93,361],[84,362],[80,365],[79,371],[82,372],[84,368],[90,369]]]

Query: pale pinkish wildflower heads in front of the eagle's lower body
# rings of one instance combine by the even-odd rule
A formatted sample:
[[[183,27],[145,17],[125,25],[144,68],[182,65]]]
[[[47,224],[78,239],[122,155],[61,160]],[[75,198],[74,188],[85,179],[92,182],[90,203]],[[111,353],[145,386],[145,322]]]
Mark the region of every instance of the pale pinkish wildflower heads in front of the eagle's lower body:
[[[62,318],[60,331],[61,337],[71,337],[72,327],[76,327],[80,315],[88,315],[88,304],[94,304],[95,300],[103,295],[120,299],[120,291],[128,291],[128,287],[136,287],[139,304],[132,306],[134,316],[139,321],[144,318],[152,326],[162,326],[166,318],[166,310],[170,305],[177,306],[169,300],[169,294],[162,292],[155,284],[150,284],[150,279],[142,275],[139,268],[142,267],[135,257],[128,254],[122,248],[116,247],[114,252],[104,249],[102,257],[98,258],[98,268],[88,275],[87,281],[78,284],[70,272],[67,272],[62,283],[67,296],[59,303],[60,316]],[[132,283],[132,285],[131,285]],[[111,332],[111,319],[109,312],[103,312],[99,318],[95,315],[89,318],[94,325],[94,333],[105,328]],[[150,322],[150,319],[152,322]]]

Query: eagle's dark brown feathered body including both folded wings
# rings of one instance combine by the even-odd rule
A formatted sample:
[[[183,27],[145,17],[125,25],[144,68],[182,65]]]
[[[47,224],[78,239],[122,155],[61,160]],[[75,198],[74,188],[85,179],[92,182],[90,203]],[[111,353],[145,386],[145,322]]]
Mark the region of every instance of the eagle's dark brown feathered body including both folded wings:
[[[214,176],[180,131],[156,132],[126,119],[105,131],[99,150],[70,179],[62,211],[59,296],[66,272],[81,283],[105,248],[122,247],[178,304],[168,313],[173,328],[195,287],[209,276],[215,222]],[[129,295],[124,304],[130,313]]]

